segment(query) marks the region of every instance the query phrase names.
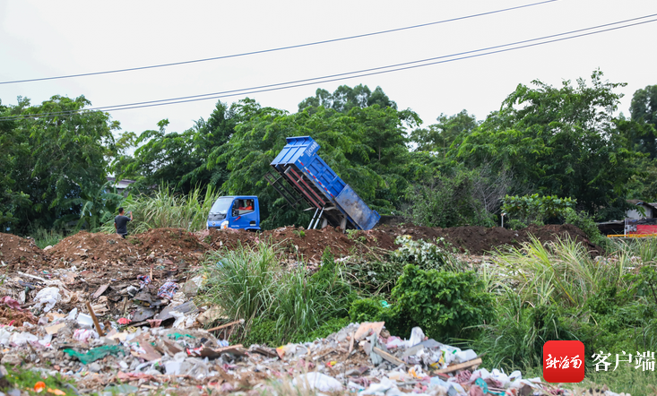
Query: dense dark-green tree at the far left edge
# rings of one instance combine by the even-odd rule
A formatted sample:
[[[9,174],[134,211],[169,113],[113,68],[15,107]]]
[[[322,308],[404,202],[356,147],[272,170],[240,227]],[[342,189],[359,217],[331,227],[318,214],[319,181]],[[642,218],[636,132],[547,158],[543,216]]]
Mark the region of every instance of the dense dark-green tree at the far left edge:
[[[107,182],[108,163],[117,154],[112,132],[119,124],[106,113],[84,110],[87,106],[91,102],[83,96],[54,96],[39,106],[19,98],[18,105],[9,109],[18,117],[3,133],[13,142],[7,173],[13,192],[30,200],[13,212],[15,220],[8,226],[13,232],[62,228],[78,220],[82,202],[74,200]],[[55,116],[39,116],[42,113]]]

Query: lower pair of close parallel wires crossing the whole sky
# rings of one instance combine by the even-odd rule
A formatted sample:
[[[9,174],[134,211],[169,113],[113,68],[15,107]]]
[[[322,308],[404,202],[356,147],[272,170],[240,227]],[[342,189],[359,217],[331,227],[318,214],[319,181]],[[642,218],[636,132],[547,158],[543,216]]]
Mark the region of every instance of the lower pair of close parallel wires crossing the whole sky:
[[[193,101],[198,101],[198,100],[220,99],[220,98],[227,98],[227,97],[238,96],[238,95],[248,95],[248,94],[267,92],[267,91],[272,91],[272,90],[285,90],[285,89],[289,89],[289,88],[297,88],[297,87],[312,85],[312,84],[316,84],[316,83],[334,82],[334,81],[340,81],[340,80],[345,80],[345,79],[365,77],[365,76],[375,75],[375,74],[392,73],[392,72],[398,72],[398,71],[402,71],[402,70],[413,69],[413,68],[423,67],[423,66],[428,66],[428,65],[444,64],[444,63],[454,62],[454,61],[457,61],[457,60],[463,60],[463,59],[468,59],[468,58],[472,58],[472,57],[498,54],[498,53],[512,51],[512,50],[515,50],[515,49],[520,49],[520,48],[525,48],[525,47],[536,47],[536,46],[540,46],[540,45],[543,45],[543,44],[549,44],[549,43],[553,43],[553,42],[563,41],[563,40],[566,40],[566,39],[575,39],[575,38],[579,38],[579,37],[590,36],[590,35],[593,35],[593,34],[602,33],[602,32],[605,32],[605,31],[619,30],[619,29],[624,29],[624,28],[628,28],[628,27],[632,27],[632,26],[641,25],[641,24],[644,24],[644,23],[657,22],[657,18],[655,18],[655,19],[648,20],[648,21],[635,22],[635,23],[631,23],[631,24],[627,24],[627,25],[623,25],[623,26],[616,26],[616,27],[612,27],[612,28],[608,28],[608,29],[604,29],[604,30],[596,30],[596,31],[581,33],[581,34],[577,34],[575,36],[562,37],[562,38],[558,38],[558,39],[550,39],[550,40],[547,40],[547,41],[540,41],[538,43],[525,44],[525,45],[519,46],[519,47],[503,48],[503,49],[497,49],[497,50],[494,50],[494,51],[483,52],[483,53],[480,53],[480,54],[473,54],[473,53],[476,53],[476,52],[487,51],[489,49],[500,48],[500,47],[509,47],[509,46],[514,46],[514,45],[517,45],[517,44],[527,43],[527,42],[536,41],[536,40],[540,40],[540,39],[555,38],[555,37],[563,36],[563,35],[566,35],[566,34],[572,34],[574,32],[581,32],[581,31],[584,31],[584,30],[599,29],[601,27],[607,27],[607,26],[610,26],[610,25],[618,24],[618,23],[636,21],[636,20],[650,18],[650,17],[654,17],[654,16],[657,16],[657,13],[651,14],[651,15],[646,15],[646,16],[643,16],[643,17],[633,18],[633,19],[626,20],[626,21],[607,23],[607,24],[604,24],[604,25],[599,25],[599,26],[595,26],[595,27],[592,27],[592,28],[582,29],[582,30],[572,30],[570,32],[559,33],[559,34],[555,34],[555,35],[551,35],[551,36],[545,36],[545,37],[539,38],[539,39],[528,39],[528,40],[518,41],[518,42],[515,42],[515,43],[505,44],[505,45],[496,46],[496,47],[487,47],[487,48],[481,48],[481,49],[477,49],[477,50],[467,51],[467,52],[463,52],[463,53],[459,53],[459,54],[453,54],[453,55],[448,55],[448,56],[438,56],[436,58],[428,58],[428,59],[424,59],[424,60],[420,60],[420,61],[407,62],[407,63],[404,63],[404,64],[376,67],[376,68],[373,68],[373,69],[364,69],[364,70],[360,70],[360,71],[356,71],[356,72],[350,72],[350,73],[333,74],[333,75],[328,75],[328,76],[324,76],[324,77],[316,77],[316,78],[313,78],[313,79],[299,80],[297,82],[282,82],[280,84],[263,85],[263,86],[260,86],[260,87],[252,87],[252,88],[247,88],[247,89],[242,89],[242,90],[227,90],[227,91],[223,91],[223,92],[215,92],[215,93],[212,93],[212,94],[204,94],[204,95],[195,95],[195,96],[191,96],[191,97],[151,100],[151,101],[148,101],[148,102],[137,102],[137,103],[131,103],[131,104],[107,106],[107,107],[100,107],[100,108],[86,108],[86,109],[81,109],[81,110],[63,111],[63,112],[58,112],[58,113],[40,113],[40,114],[32,114],[32,115],[24,115],[24,116],[23,115],[22,116],[6,116],[6,117],[0,117],[0,121],[18,119],[18,118],[30,118],[30,117],[63,116],[63,115],[70,115],[70,114],[79,113],[81,111],[117,111],[117,110],[133,109],[133,108],[151,108],[151,107],[155,107],[155,106],[164,106],[164,105],[171,105],[171,104],[177,104],[177,103],[186,103],[186,102],[193,102]],[[467,54],[471,54],[471,55],[467,55]],[[465,56],[460,56],[460,55],[465,55]],[[428,60],[435,60],[435,59],[441,59],[441,58],[453,57],[453,56],[460,56],[460,57],[455,57],[455,58],[452,58],[452,59],[443,59],[443,60],[439,60],[439,61],[436,61],[436,62],[430,62],[430,63],[423,63],[421,65],[411,65],[411,64],[421,63],[421,62],[427,62]],[[393,67],[395,67],[395,68],[393,68]],[[391,68],[393,68],[393,69],[391,69]],[[388,70],[380,70],[380,69],[388,69]],[[374,71],[374,70],[377,70],[377,71],[376,72],[370,72],[370,71]],[[369,72],[369,73],[365,73],[365,72]],[[351,75],[351,76],[348,76],[348,77],[344,77],[344,75],[346,75],[346,74],[357,74],[357,73],[358,73],[358,75]],[[317,80],[321,80],[321,81],[317,81]],[[312,82],[307,82],[307,81],[312,81]],[[301,82],[301,83],[298,83],[298,82]],[[294,85],[288,85],[288,86],[282,86],[282,87],[279,86],[279,85],[286,85],[286,84],[294,84]],[[204,97],[204,98],[200,98],[200,97]]]

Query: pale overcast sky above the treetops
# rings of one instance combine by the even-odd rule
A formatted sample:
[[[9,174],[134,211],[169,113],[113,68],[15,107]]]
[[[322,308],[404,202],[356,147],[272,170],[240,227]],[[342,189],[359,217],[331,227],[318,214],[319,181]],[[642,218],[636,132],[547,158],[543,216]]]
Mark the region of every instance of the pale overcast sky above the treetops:
[[[226,56],[336,39],[485,13],[540,0],[90,2],[0,0],[0,82],[91,73]],[[362,39],[192,65],[47,82],[0,85],[4,104],[84,95],[93,107],[169,99],[314,78],[447,56],[657,13],[655,0],[558,0],[505,13]],[[655,17],[650,18],[655,19]],[[650,20],[649,19],[649,20]],[[483,119],[518,83],[553,85],[600,68],[635,90],[657,84],[657,22],[394,73],[249,94],[261,105],[297,111],[317,88],[381,86],[425,125],[462,109]],[[221,99],[233,102],[246,95]],[[217,99],[112,112],[125,131],[155,129],[169,118],[182,132],[212,113]]]

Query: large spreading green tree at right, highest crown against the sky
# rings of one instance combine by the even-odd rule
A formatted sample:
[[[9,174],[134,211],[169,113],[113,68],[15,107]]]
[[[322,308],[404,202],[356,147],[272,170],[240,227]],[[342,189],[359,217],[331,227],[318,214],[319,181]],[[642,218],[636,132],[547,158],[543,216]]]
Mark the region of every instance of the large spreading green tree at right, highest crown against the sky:
[[[627,182],[640,157],[629,150],[622,120],[613,116],[621,98],[614,90],[625,84],[602,81],[600,71],[592,73],[592,86],[584,79],[561,88],[532,83],[536,88],[518,85],[448,155],[470,165],[489,161],[511,169],[516,189],[572,197],[578,209],[600,219],[622,217]]]

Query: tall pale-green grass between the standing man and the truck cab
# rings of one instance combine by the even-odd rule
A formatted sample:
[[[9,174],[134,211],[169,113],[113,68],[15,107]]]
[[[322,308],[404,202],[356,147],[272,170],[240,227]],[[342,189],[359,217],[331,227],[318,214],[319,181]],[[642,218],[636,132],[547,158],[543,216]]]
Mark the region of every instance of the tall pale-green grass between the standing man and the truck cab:
[[[129,195],[122,203],[125,215],[133,212],[134,220],[128,223],[130,234],[139,234],[151,228],[186,228],[198,231],[206,227],[208,213],[221,192],[208,186],[203,194],[196,187],[187,195],[175,193],[169,185],[160,185],[153,195]],[[100,228],[101,232],[114,233],[114,219]]]

